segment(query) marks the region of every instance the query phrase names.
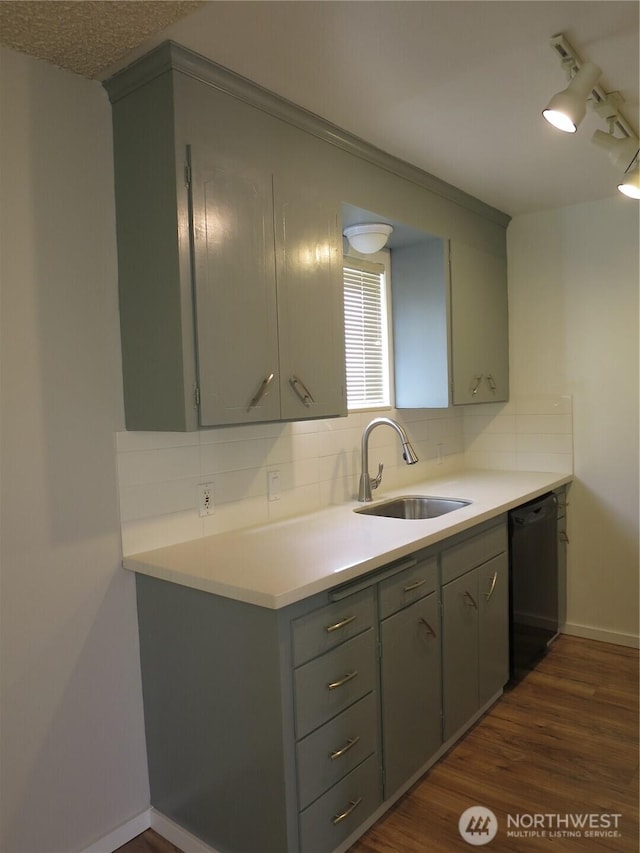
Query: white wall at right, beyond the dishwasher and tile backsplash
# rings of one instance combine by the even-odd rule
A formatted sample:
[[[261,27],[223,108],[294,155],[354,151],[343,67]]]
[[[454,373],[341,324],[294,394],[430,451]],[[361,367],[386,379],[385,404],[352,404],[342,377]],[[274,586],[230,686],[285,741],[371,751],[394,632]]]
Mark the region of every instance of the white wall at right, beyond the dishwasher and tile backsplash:
[[[569,630],[638,637],[638,205],[621,196],[508,230],[511,388],[573,397]]]

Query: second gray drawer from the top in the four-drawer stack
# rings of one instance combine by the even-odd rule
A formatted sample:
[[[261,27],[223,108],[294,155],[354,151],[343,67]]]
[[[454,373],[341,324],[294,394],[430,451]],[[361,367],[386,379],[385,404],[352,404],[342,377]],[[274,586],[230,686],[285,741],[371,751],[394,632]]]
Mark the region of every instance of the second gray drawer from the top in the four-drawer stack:
[[[375,686],[373,629],[294,671],[298,740],[370,693]]]

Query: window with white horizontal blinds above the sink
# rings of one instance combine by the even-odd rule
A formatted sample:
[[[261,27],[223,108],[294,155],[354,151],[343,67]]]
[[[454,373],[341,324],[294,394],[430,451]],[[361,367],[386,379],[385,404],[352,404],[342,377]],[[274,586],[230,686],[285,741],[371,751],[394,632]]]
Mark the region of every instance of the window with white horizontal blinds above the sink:
[[[384,264],[350,257],[344,260],[347,408],[350,411],[391,405],[388,253],[383,258]]]

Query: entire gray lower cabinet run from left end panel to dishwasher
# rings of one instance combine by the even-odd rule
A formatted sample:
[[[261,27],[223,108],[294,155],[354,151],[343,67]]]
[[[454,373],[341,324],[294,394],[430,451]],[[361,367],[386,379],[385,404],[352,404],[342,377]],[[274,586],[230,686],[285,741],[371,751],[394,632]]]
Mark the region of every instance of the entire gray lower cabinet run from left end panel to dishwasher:
[[[221,853],[348,843],[506,682],[505,547],[481,525],[281,610],[137,575],[153,807]]]

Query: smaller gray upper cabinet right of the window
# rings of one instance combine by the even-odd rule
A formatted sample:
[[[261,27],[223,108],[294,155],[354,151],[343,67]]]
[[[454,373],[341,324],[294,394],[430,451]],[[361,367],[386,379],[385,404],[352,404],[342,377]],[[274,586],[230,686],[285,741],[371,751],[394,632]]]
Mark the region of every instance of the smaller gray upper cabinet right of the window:
[[[508,400],[504,254],[424,235],[392,268],[397,407]]]

